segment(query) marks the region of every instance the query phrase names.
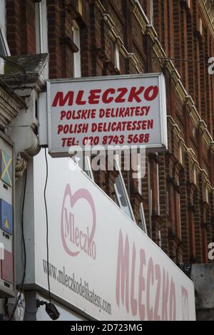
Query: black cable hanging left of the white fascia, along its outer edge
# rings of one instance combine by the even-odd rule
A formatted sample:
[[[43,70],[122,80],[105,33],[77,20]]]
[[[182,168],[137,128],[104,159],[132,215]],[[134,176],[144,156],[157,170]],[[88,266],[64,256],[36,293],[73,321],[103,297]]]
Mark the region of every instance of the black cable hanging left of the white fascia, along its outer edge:
[[[23,272],[23,277],[21,281],[21,289],[20,289],[19,297],[16,299],[16,304],[14,306],[14,310],[11,314],[10,320],[13,319],[14,313],[19,304],[19,300],[21,299],[21,294],[24,288],[24,279],[26,276],[26,244],[25,244],[25,239],[24,239],[24,203],[25,203],[25,196],[26,196],[26,180],[27,180],[27,169],[25,171],[25,177],[24,177],[24,195],[23,195],[23,202],[22,202],[22,207],[21,207],[21,239],[23,241],[23,247],[24,247],[24,272]]]

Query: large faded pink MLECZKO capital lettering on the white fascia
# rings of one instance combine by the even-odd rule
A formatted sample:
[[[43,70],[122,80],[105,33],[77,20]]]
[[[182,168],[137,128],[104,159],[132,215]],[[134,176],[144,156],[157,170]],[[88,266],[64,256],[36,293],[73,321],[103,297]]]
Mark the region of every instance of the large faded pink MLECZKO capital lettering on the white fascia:
[[[177,319],[175,280],[164,264],[148,257],[146,250],[130,244],[122,231],[118,240],[116,303],[141,321]],[[138,263],[138,266],[137,266]],[[188,319],[188,292],[183,288],[183,317]]]

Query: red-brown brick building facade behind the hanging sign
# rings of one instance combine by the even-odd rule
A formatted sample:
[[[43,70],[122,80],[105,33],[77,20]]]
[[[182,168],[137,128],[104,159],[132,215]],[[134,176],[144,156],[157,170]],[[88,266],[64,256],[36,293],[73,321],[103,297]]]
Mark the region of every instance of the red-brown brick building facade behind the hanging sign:
[[[12,55],[36,51],[35,2],[6,1]],[[214,29],[203,1],[190,0],[189,7],[186,0],[153,0],[153,26],[149,0],[140,0],[140,5],[133,0],[46,4],[50,78],[73,76],[73,20],[80,28],[82,76],[165,74],[168,152],[148,155],[150,171],[142,180],[142,195],[131,174],[123,177],[136,220],[143,202],[148,234],[171,259],[208,262],[208,243],[214,241],[214,76],[208,74]],[[112,198],[116,175],[95,173],[98,185]]]

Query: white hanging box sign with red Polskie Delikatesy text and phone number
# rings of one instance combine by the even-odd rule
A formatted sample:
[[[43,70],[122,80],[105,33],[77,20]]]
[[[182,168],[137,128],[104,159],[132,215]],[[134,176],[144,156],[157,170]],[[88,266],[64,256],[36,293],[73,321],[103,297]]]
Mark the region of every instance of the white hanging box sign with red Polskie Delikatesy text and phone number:
[[[49,153],[71,146],[167,148],[162,73],[58,79],[48,82]]]

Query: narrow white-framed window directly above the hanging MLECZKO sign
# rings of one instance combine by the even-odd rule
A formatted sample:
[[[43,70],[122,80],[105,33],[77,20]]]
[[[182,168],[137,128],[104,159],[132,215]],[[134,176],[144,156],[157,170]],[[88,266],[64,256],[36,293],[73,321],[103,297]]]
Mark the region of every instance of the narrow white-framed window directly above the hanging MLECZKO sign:
[[[73,43],[78,47],[78,52],[73,53],[73,77],[81,77],[81,46],[80,46],[80,31],[76,21],[73,21]]]

